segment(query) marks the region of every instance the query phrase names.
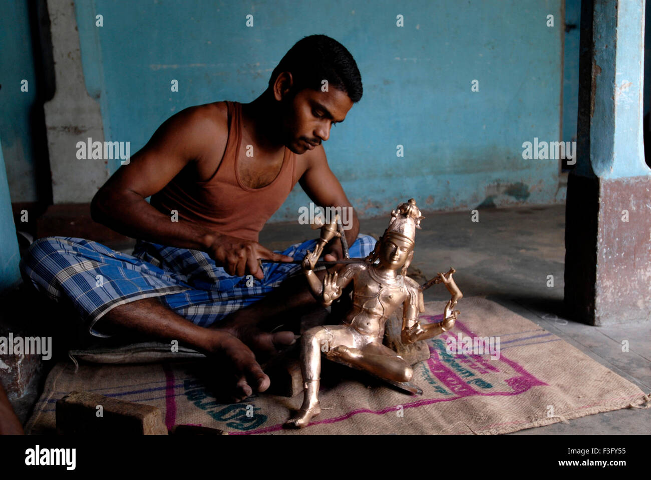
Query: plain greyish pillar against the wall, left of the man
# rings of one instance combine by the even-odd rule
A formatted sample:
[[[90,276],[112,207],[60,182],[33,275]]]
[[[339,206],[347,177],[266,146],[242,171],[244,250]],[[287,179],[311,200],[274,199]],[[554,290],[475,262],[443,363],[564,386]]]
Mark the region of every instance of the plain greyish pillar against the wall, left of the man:
[[[109,178],[104,160],[77,159],[77,142],[104,141],[100,105],[90,98],[81,67],[73,1],[48,0],[56,90],[45,104],[55,204],[90,202]],[[87,21],[94,22],[94,18]]]

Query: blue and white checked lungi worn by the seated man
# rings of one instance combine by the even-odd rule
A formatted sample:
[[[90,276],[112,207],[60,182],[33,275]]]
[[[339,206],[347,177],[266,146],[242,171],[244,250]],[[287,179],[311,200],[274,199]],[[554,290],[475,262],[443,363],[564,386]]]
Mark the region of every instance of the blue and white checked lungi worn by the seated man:
[[[376,240],[358,235],[351,257],[365,257]],[[284,255],[301,260],[316,240],[287,248]],[[135,300],[162,297],[171,310],[189,321],[209,327],[244,306],[262,299],[283,280],[300,271],[296,263],[262,263],[264,279],[232,276],[200,250],[165,247],[138,241],[133,254],[72,237],[36,240],[20,261],[23,280],[51,299],[69,302],[90,334],[111,308]]]

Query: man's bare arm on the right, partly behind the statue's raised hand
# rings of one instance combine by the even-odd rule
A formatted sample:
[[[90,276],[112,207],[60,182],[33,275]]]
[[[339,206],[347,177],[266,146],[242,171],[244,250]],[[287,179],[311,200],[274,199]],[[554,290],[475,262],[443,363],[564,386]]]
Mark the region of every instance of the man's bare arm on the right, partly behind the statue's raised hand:
[[[299,180],[301,187],[307,196],[309,196],[315,204],[322,207],[350,207],[352,212],[350,221],[350,228],[344,230],[346,233],[346,241],[348,245],[352,245],[357,239],[359,233],[359,220],[357,220],[357,213],[350,204],[350,200],[346,197],[344,189],[342,188],[339,180],[327,164],[326,152],[322,145],[318,146],[312,152],[307,153],[307,168],[305,173]],[[339,241],[334,242],[334,249],[339,258],[342,257],[340,252]],[[335,253],[334,251],[331,253]]]

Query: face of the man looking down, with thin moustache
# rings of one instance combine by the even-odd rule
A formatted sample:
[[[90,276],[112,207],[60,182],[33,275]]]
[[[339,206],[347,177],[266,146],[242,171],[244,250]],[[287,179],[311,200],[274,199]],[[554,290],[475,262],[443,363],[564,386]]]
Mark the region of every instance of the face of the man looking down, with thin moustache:
[[[284,144],[300,155],[330,138],[330,129],[344,121],[353,102],[341,90],[303,88],[283,102]]]

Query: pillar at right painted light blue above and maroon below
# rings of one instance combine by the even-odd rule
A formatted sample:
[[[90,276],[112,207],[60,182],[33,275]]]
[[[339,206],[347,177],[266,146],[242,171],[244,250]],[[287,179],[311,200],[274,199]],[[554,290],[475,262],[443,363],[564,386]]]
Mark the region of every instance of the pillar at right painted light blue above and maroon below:
[[[591,325],[648,321],[644,0],[583,0],[579,69],[577,165],[566,203],[566,307]]]

